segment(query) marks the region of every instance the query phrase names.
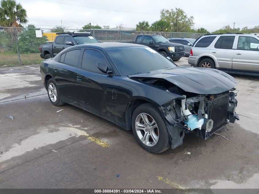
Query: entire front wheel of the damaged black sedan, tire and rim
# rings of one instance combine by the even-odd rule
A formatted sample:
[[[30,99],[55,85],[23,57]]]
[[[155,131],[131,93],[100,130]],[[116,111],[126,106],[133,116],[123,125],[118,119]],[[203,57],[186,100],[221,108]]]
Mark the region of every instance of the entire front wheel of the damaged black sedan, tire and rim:
[[[159,110],[152,104],[138,106],[131,119],[135,139],[145,150],[158,154],[169,146],[169,134]]]

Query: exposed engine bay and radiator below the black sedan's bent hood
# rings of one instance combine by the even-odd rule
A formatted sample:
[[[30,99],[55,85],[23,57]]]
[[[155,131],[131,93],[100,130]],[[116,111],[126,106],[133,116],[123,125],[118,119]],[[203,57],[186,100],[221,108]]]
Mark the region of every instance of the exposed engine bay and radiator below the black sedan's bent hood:
[[[238,104],[235,88],[218,94],[197,94],[186,92],[177,86],[177,83],[162,78],[138,80],[182,96],[160,107],[169,123],[172,148],[183,143],[185,133],[195,133],[198,137],[207,139],[228,122],[239,120],[235,112]]]

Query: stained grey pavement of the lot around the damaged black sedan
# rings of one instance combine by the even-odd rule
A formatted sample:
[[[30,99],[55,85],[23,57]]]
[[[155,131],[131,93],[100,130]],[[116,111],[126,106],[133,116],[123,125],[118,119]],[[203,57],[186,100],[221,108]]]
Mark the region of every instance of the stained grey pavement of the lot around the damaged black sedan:
[[[132,131],[53,106],[39,65],[0,68],[0,188],[259,188],[259,78],[232,76],[240,121],[219,131],[228,140],[186,134],[151,154]]]

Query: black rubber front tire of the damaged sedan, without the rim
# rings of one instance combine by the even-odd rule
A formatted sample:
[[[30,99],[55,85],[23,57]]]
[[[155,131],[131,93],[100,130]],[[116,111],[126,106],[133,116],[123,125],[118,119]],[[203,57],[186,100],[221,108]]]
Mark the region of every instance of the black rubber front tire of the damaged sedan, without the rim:
[[[150,115],[155,120],[155,123],[158,126],[159,136],[158,136],[158,141],[154,146],[145,145],[139,139],[139,136],[136,132],[135,121],[137,119],[137,116],[141,113],[146,113],[146,114]],[[154,153],[154,154],[158,154],[158,153],[161,153],[163,151],[166,151],[169,148],[169,146],[170,146],[169,134],[168,134],[168,130],[167,130],[165,121],[164,121],[161,113],[159,112],[158,108],[156,108],[154,105],[152,105],[150,103],[146,103],[146,104],[138,106],[132,114],[131,124],[132,124],[133,134],[134,134],[137,142],[145,150],[147,150],[151,153]]]

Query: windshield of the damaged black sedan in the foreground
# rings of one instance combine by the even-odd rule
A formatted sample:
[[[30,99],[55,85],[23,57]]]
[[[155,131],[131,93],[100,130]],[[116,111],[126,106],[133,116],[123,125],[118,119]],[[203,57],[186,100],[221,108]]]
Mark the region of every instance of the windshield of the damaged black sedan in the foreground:
[[[116,48],[107,52],[122,76],[176,67],[149,47]]]

